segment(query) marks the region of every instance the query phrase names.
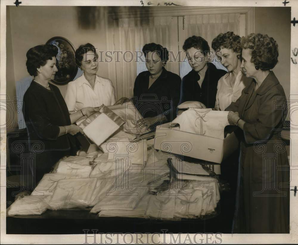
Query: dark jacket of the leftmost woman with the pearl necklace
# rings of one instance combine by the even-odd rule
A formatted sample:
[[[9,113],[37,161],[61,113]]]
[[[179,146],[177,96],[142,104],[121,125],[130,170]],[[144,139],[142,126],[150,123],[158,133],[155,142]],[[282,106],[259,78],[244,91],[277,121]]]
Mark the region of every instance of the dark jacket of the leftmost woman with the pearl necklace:
[[[29,150],[32,141],[40,141],[44,151],[74,150],[76,139],[67,134],[58,137],[59,126],[70,125],[69,112],[60,90],[50,84],[47,90],[32,82],[24,94],[23,114],[29,137]]]

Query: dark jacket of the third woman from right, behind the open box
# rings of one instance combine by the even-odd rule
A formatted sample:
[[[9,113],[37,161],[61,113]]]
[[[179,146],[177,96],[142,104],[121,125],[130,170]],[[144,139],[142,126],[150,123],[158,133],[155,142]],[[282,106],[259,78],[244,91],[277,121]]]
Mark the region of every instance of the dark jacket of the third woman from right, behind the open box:
[[[179,105],[185,101],[199,101],[207,108],[215,107],[217,83],[226,74],[226,71],[217,69],[212,63],[207,63],[207,66],[201,87],[198,84],[200,76],[194,70],[182,78]]]

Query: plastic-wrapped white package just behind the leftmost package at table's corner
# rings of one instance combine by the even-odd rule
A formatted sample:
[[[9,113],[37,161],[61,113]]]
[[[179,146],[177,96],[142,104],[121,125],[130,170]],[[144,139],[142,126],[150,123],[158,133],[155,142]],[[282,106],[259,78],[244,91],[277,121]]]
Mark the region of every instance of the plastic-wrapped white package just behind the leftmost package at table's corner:
[[[79,175],[63,174],[63,173],[46,173],[35,189],[32,191],[32,196],[52,195],[56,184],[61,179],[79,178]]]

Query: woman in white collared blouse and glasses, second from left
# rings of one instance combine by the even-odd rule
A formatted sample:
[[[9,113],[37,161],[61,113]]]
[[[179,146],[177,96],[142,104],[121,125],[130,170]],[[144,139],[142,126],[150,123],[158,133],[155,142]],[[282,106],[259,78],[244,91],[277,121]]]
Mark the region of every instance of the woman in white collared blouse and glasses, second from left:
[[[115,88],[111,80],[96,74],[98,71],[97,58],[96,49],[92,44],[80,45],[76,50],[76,63],[84,74],[67,85],[64,99],[69,112],[79,111],[88,106],[115,104]]]

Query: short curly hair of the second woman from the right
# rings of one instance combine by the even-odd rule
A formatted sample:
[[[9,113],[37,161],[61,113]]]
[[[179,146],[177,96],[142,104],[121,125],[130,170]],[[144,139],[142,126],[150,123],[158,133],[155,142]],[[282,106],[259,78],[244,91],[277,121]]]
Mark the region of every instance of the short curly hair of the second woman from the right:
[[[213,39],[211,46],[214,51],[226,48],[241,54],[240,42],[241,38],[239,35],[235,35],[234,32],[226,32],[218,34],[218,36]]]

